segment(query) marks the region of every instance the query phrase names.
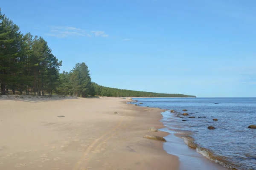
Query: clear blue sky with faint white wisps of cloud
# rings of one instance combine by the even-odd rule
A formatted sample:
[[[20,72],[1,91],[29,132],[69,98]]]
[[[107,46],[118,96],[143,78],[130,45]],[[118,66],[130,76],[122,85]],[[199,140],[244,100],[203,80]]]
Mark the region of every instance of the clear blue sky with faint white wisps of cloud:
[[[255,0],[8,0],[2,13],[47,40],[61,71],[99,85],[256,97]]]

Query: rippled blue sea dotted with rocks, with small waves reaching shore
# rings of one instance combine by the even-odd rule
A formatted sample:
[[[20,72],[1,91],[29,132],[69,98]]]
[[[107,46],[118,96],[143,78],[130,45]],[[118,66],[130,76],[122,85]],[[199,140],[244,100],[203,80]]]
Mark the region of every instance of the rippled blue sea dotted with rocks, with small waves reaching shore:
[[[162,113],[167,130],[175,131],[176,136],[208,159],[227,168],[256,170],[256,129],[247,128],[256,125],[256,98],[133,99],[138,100],[133,104],[142,102],[144,107],[168,109]],[[183,116],[185,112],[195,119]],[[215,129],[209,130],[208,126]]]

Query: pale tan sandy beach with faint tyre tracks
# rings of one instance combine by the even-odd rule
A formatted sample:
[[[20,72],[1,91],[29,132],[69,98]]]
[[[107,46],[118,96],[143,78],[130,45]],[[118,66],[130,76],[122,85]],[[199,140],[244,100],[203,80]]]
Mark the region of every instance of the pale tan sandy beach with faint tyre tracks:
[[[162,142],[143,138],[168,134],[147,130],[163,127],[161,112],[109,97],[0,99],[0,169],[176,170]]]

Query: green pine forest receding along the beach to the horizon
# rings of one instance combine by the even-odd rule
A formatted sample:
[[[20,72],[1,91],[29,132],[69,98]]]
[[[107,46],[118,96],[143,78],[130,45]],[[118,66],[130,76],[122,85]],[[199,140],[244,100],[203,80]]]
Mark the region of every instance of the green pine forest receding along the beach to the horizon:
[[[113,97],[195,97],[108,88],[91,81],[87,65],[77,63],[59,73],[62,61],[52,54],[43,37],[22,34],[0,9],[0,95],[52,96],[54,94]]]

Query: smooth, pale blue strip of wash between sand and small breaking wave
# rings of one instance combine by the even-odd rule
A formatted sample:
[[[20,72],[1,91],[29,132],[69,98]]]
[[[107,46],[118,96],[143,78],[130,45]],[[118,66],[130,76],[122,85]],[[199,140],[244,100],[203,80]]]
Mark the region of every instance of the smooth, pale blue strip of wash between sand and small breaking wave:
[[[135,99],[137,99],[136,97]],[[143,102],[143,101],[138,101]],[[133,104],[131,104],[133,105]],[[140,105],[139,105],[140,106]],[[140,106],[143,107],[143,106]],[[162,108],[161,108],[162,109]],[[173,122],[169,119],[172,118],[172,114],[169,114],[169,109],[162,109],[161,112],[162,118],[159,120],[163,124],[163,128],[160,129],[168,133],[165,136],[166,143],[163,144],[163,149],[174,156],[177,156],[180,161],[179,170],[187,170],[187,169],[209,169],[209,170],[227,170],[228,168],[223,167],[222,165],[215,163],[214,161],[207,159],[203,154],[198,153],[198,151],[194,148],[189,147],[188,144],[184,141],[182,137],[179,137],[179,133],[175,130],[177,122]],[[166,115],[170,115],[166,117]],[[167,123],[167,124],[166,124]],[[171,125],[170,125],[171,124]]]

